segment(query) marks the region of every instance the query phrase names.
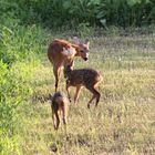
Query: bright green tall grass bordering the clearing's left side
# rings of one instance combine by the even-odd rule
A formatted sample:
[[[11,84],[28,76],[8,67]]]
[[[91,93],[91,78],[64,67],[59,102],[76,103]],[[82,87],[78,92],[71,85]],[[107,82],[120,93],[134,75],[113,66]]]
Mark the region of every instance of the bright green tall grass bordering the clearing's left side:
[[[29,124],[24,106],[33,92],[31,79],[43,51],[39,27],[0,24],[0,154],[21,154],[22,131]],[[28,128],[27,128],[28,130]]]

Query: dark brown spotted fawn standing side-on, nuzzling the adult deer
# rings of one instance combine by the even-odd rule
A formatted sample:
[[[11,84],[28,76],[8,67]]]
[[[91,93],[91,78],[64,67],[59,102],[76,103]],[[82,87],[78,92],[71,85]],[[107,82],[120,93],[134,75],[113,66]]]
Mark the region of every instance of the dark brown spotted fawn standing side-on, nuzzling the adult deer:
[[[66,65],[64,68],[64,72],[66,74],[66,92],[68,92],[68,97],[70,99],[70,102],[71,102],[71,96],[69,92],[70,86],[76,87],[76,91],[74,94],[74,103],[76,103],[79,99],[81,89],[86,87],[93,94],[92,99],[87,103],[87,107],[90,108],[90,105],[94,99],[96,99],[95,106],[97,106],[101,94],[96,90],[96,87],[103,80],[103,76],[101,75],[101,73],[93,69],[73,70],[71,65]]]

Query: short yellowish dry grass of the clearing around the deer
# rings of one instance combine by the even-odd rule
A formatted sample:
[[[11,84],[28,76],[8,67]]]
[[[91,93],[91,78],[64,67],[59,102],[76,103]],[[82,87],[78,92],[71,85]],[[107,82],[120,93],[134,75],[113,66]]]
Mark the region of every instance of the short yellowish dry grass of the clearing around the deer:
[[[43,53],[40,65],[34,68],[33,96],[24,105],[24,155],[155,154],[155,39],[97,37],[91,38],[91,44],[89,63],[76,59],[74,68],[102,72],[99,107],[86,108],[91,93],[83,89],[79,104],[70,105],[68,135],[63,125],[55,132],[46,101],[49,93],[54,92],[54,76]],[[59,90],[65,92],[63,78]]]

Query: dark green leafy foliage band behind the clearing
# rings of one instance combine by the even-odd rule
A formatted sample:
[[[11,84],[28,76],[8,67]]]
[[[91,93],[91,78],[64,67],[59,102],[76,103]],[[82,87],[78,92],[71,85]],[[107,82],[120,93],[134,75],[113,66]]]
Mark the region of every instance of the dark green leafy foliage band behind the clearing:
[[[0,19],[44,27],[144,25],[155,23],[154,0],[12,0],[0,2]]]

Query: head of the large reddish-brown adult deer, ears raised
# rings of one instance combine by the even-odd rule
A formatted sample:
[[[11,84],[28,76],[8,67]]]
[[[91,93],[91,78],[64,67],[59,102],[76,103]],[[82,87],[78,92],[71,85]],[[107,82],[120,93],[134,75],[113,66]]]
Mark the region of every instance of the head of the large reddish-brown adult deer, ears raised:
[[[90,41],[89,39],[85,39],[84,43],[80,42],[80,40],[74,37],[73,42],[78,45],[78,54],[81,56],[84,61],[89,60],[89,46],[90,46]]]

